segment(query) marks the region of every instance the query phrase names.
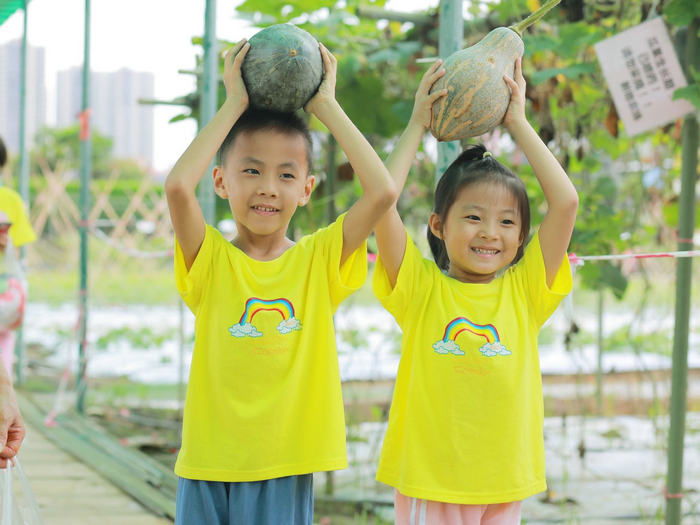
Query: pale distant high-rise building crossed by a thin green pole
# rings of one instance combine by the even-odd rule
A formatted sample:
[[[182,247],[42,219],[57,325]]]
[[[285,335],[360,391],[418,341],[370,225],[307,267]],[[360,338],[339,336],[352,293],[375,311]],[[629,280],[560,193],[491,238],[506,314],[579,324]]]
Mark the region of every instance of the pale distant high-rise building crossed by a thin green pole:
[[[153,98],[152,73],[129,69],[109,73],[93,72],[90,77],[90,108],[93,129],[111,137],[117,158],[153,163],[153,106],[138,103]],[[82,69],[58,73],[56,82],[56,125],[75,124],[82,99]]]

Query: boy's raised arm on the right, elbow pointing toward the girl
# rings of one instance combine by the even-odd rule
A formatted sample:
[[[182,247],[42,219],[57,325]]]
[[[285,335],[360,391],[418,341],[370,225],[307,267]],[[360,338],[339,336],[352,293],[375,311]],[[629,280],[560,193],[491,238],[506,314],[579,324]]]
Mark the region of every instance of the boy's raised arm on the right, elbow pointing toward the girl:
[[[325,74],[318,93],[305,109],[316,115],[333,134],[362,185],[362,196],[350,208],[343,222],[342,265],[369,237],[379,218],[395,201],[397,192],[381,159],[335,99],[338,62],[323,44],[319,47]]]

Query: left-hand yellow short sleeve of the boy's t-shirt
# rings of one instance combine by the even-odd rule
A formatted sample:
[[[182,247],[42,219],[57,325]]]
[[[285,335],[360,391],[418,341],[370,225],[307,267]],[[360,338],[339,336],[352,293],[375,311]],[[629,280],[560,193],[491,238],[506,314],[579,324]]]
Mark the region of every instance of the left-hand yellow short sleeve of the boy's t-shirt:
[[[175,284],[182,300],[195,315],[202,300],[205,284],[211,279],[217,234],[213,226],[207,225],[204,241],[189,271],[180,243],[175,238]]]

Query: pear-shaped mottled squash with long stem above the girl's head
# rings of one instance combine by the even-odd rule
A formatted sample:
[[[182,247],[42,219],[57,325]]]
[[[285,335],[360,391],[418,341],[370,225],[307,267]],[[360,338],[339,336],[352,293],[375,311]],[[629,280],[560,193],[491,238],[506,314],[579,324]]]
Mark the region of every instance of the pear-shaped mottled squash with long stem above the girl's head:
[[[513,78],[515,61],[523,56],[522,31],[559,3],[549,0],[512,27],[498,27],[471,47],[448,56],[446,74],[432,91],[447,88],[447,95],[432,108],[430,131],[440,141],[475,137],[502,121],[510,102],[503,75]]]

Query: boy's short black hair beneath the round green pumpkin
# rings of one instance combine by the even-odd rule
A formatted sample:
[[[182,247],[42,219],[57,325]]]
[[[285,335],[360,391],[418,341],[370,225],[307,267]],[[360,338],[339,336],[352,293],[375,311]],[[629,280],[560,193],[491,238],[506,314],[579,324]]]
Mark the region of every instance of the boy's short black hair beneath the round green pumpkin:
[[[220,166],[223,165],[226,153],[231,149],[238,135],[261,130],[278,131],[287,135],[299,134],[304,137],[308,173],[311,173],[313,143],[311,141],[311,132],[309,131],[309,126],[306,121],[297,113],[283,113],[259,108],[248,108],[238,118],[219,148],[217,164]]]

